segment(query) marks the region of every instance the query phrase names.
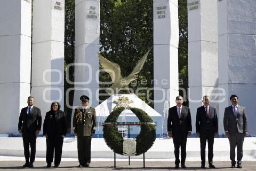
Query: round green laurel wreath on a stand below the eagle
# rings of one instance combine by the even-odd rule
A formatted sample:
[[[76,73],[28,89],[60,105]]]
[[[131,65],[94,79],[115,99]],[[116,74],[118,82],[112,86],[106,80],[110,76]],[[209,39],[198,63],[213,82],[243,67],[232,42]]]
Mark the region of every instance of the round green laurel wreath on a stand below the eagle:
[[[114,109],[105,122],[116,122],[124,107]],[[153,122],[151,117],[139,108],[130,108],[130,110],[139,118],[140,122]],[[117,129],[117,125],[104,125],[103,137],[108,145],[115,153],[123,155],[123,137]],[[155,125],[141,125],[140,133],[136,137],[136,156],[145,153],[154,144],[156,138]]]

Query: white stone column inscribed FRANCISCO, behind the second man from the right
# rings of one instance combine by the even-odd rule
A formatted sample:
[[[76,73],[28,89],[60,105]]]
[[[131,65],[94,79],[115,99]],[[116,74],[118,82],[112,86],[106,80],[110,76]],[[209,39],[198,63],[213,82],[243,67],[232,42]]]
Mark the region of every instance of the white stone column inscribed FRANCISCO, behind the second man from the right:
[[[204,95],[216,100],[218,85],[217,1],[188,0],[189,108],[192,132],[195,132],[196,110]],[[211,105],[218,109],[217,102]],[[222,118],[222,115],[218,115]]]

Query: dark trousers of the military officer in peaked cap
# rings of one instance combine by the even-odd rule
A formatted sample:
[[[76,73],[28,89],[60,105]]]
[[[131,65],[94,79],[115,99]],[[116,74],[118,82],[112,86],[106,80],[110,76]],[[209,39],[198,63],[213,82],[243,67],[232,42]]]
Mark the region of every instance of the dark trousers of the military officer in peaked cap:
[[[91,163],[92,136],[77,136],[77,152],[80,164]]]

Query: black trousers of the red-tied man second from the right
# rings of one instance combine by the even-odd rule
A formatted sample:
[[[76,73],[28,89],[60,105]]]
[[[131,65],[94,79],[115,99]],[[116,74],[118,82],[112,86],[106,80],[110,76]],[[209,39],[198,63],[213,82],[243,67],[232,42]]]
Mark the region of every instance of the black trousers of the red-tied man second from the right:
[[[205,164],[205,147],[206,141],[208,142],[208,163],[212,163],[213,159],[213,143],[214,143],[214,133],[206,131],[205,134],[200,133],[200,152],[201,152],[201,164]]]

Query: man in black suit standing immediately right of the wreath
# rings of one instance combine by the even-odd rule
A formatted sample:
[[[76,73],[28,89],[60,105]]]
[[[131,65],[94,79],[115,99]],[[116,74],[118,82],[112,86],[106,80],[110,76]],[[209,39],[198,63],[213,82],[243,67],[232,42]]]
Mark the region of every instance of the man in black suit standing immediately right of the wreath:
[[[168,137],[173,137],[174,153],[175,153],[175,168],[181,167],[186,169],[186,144],[187,137],[191,135],[191,115],[190,109],[183,106],[183,97],[176,97],[176,106],[169,108],[167,131]],[[181,148],[181,162],[180,162],[180,148]]]

